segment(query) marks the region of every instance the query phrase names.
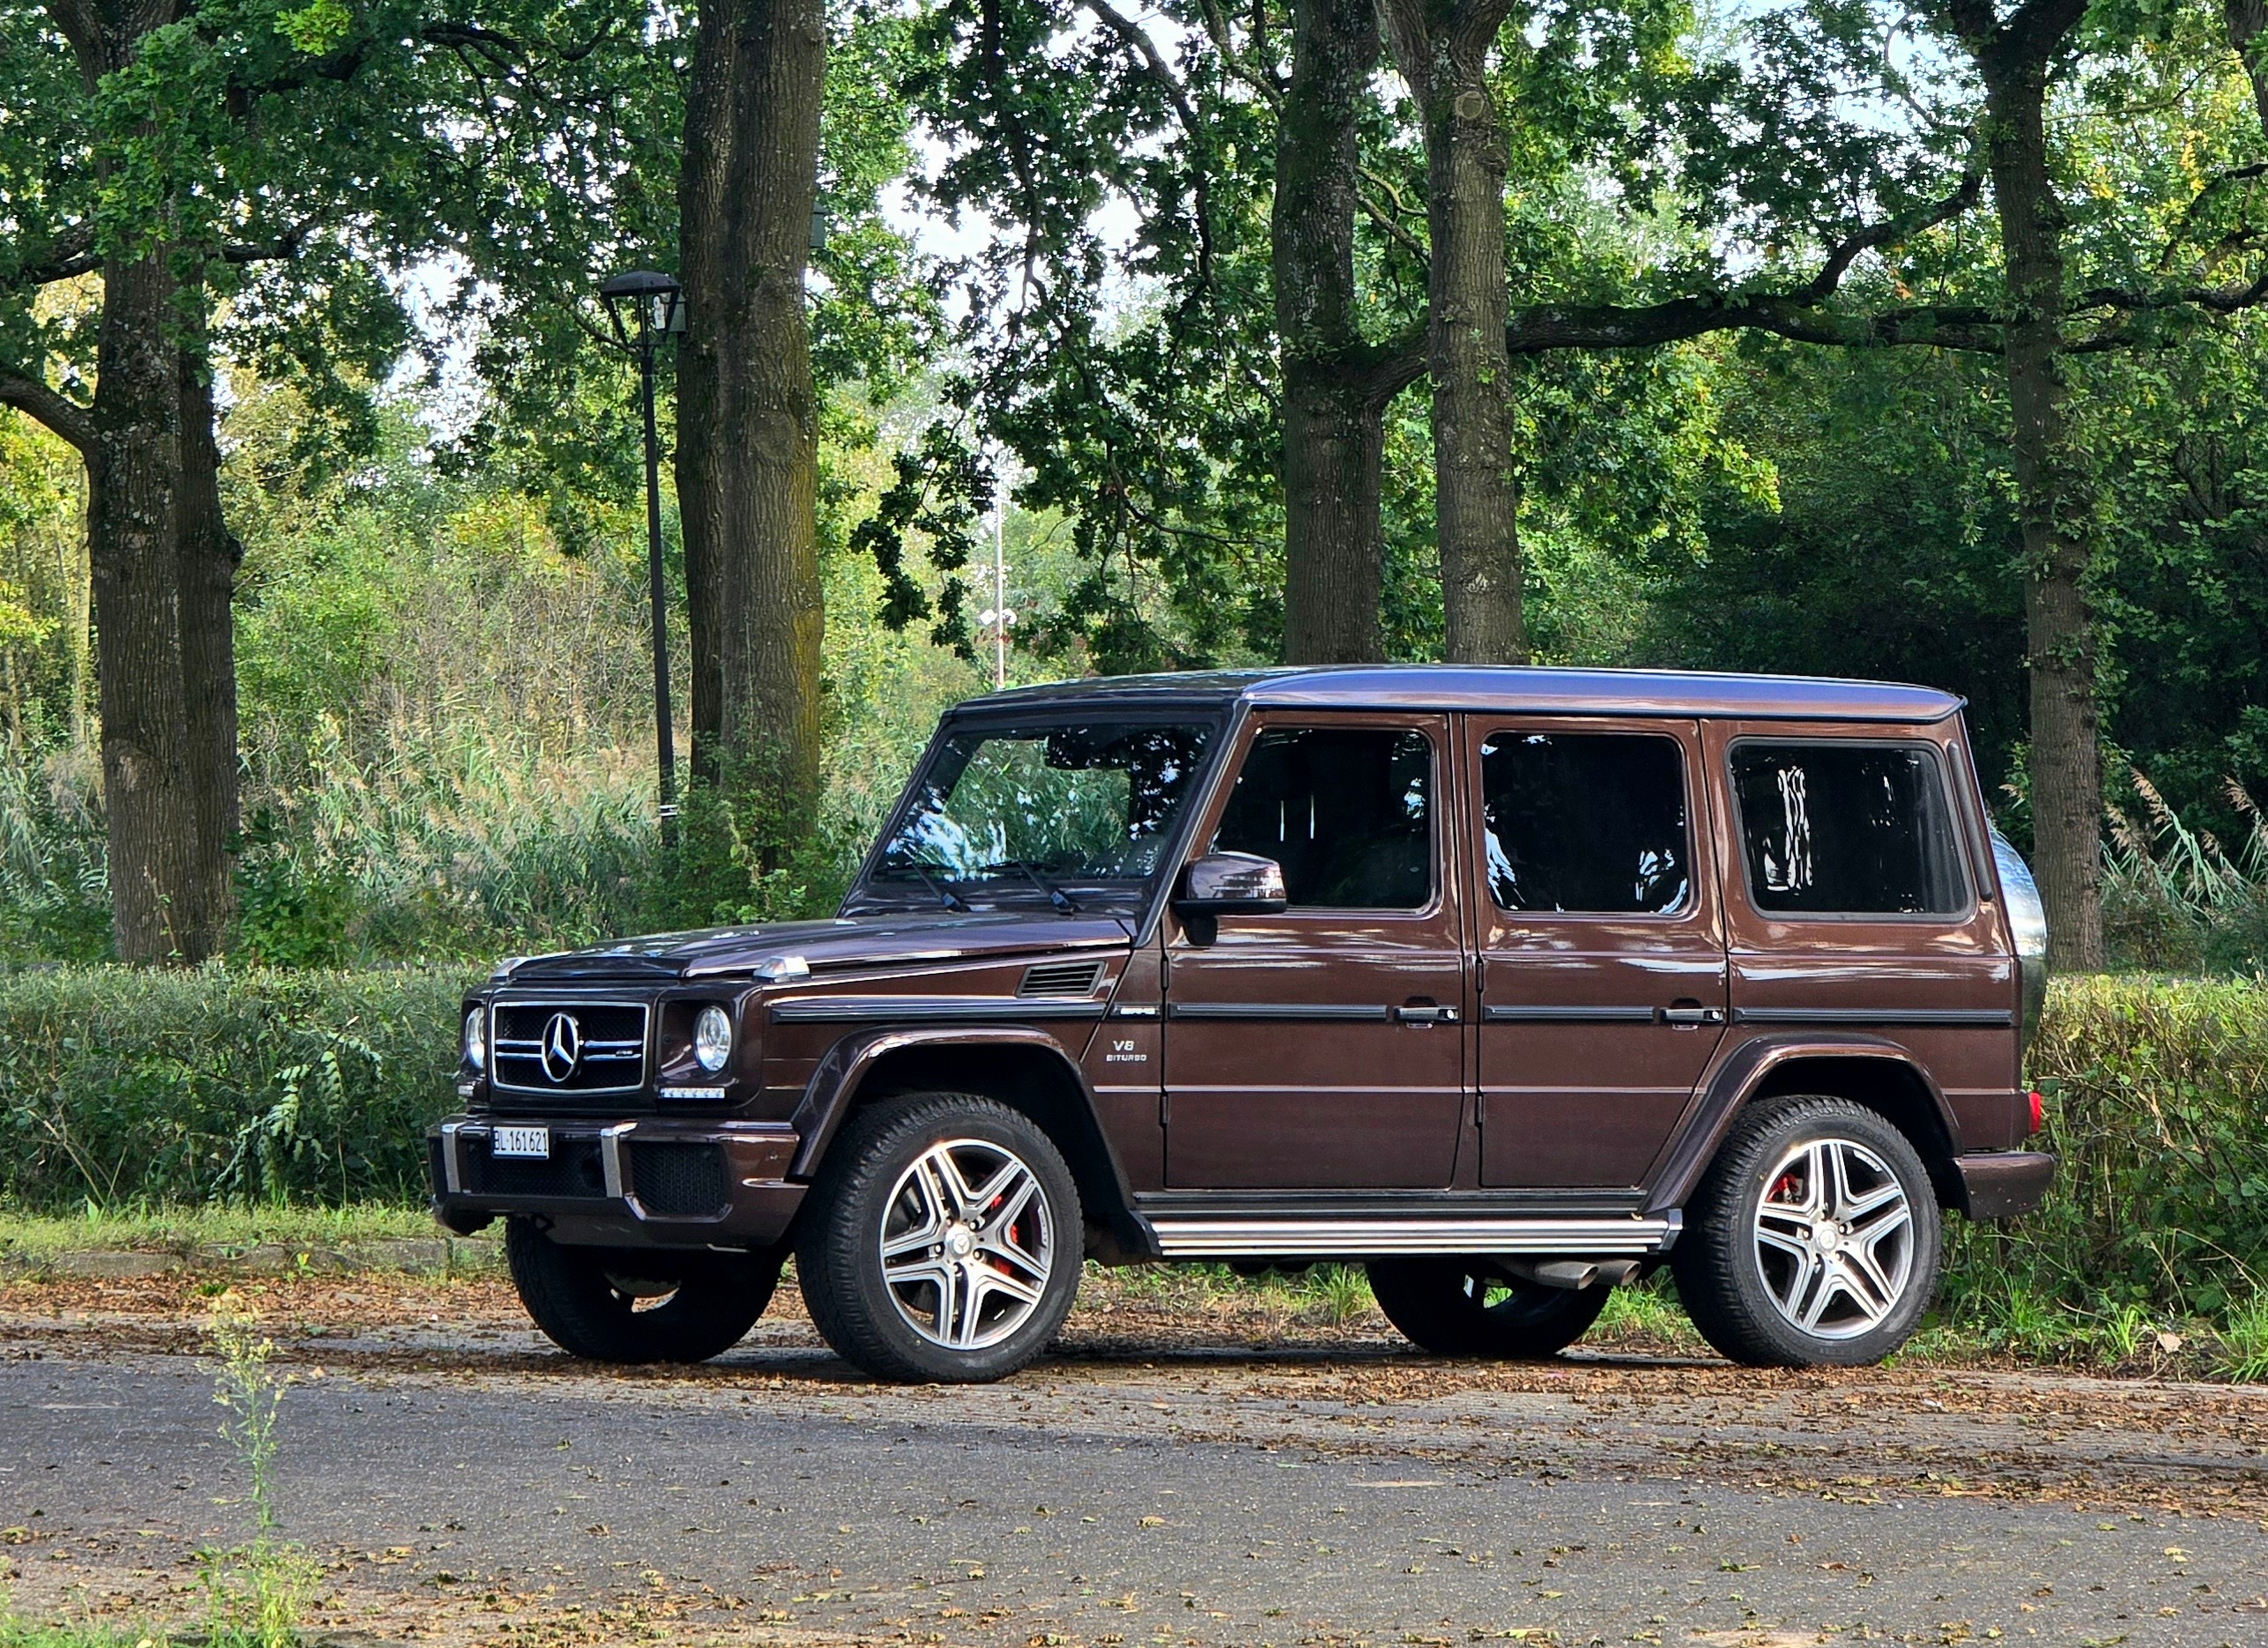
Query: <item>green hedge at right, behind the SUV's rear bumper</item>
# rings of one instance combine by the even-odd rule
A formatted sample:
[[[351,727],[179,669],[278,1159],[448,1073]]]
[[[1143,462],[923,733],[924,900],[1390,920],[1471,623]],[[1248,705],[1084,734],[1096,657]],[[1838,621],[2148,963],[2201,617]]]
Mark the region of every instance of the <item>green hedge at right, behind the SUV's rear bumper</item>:
[[[1955,1228],[1957,1305],[2220,1317],[2268,1285],[2268,981],[2062,978],[2030,1076],[2062,1169]]]

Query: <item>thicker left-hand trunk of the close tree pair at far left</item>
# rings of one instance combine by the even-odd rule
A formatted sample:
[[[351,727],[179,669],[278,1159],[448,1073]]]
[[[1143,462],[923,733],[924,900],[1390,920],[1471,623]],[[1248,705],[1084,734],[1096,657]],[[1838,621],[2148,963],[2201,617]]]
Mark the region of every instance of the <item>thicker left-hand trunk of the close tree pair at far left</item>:
[[[181,377],[166,257],[102,270],[86,543],[118,958],[209,949],[181,679]]]

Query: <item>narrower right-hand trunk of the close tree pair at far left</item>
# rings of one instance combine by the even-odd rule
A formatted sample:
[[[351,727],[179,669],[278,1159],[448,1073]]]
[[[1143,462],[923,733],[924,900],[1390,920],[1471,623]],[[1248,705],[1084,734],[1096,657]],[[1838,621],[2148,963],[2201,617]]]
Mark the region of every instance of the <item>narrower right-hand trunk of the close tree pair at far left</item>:
[[[236,567],[245,547],[220,513],[220,440],[213,372],[202,340],[181,347],[181,490],[175,504],[181,577],[181,717],[188,783],[197,799],[195,908],[186,926],[202,960],[236,915]]]

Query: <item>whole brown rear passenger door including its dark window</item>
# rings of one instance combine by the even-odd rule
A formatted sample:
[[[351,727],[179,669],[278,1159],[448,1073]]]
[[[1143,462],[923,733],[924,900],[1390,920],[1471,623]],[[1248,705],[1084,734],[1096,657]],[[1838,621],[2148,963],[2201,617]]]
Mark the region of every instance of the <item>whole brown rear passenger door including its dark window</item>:
[[[1631,1189],[1724,1040],[1694,722],[1465,722],[1481,1183]]]

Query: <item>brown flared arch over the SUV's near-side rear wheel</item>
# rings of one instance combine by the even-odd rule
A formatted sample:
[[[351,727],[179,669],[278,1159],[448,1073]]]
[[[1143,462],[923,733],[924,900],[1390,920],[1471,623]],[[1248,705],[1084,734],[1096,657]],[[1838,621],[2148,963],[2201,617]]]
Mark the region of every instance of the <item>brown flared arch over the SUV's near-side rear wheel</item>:
[[[1937,1205],[1964,1208],[1953,1158],[1953,1108],[1928,1069],[1896,1042],[1873,1035],[1755,1037],[1733,1049],[1701,1087],[1685,1128],[1672,1142],[1647,1196],[1647,1212],[1683,1208],[1733,1128],[1758,1099],[1828,1094],[1864,1105],[1914,1146],[1930,1171]]]

